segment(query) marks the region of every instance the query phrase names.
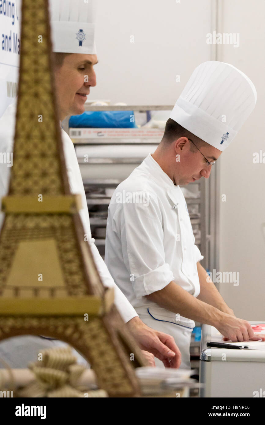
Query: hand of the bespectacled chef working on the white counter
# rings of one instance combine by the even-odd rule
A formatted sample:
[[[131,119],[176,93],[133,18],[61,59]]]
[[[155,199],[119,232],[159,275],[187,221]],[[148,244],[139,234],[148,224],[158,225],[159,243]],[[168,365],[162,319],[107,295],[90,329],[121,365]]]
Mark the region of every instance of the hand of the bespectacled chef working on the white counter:
[[[216,328],[223,335],[224,341],[231,340],[233,343],[242,343],[248,340],[265,340],[265,335],[254,334],[251,324],[247,320],[238,319],[227,313],[223,313],[222,321]]]

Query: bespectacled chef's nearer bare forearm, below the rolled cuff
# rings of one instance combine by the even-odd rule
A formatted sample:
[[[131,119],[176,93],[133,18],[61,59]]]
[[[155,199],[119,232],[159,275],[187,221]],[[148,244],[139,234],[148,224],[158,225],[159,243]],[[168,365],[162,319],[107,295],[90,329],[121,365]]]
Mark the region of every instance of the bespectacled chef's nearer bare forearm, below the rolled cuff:
[[[215,327],[222,322],[223,313],[219,309],[198,300],[174,281],[146,297],[159,306],[191,320]]]

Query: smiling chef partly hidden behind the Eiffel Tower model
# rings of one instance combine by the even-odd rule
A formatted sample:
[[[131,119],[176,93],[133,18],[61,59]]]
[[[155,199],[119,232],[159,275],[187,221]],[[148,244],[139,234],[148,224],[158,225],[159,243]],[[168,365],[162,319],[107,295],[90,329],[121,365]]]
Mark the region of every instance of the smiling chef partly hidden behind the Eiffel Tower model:
[[[51,2],[51,28],[53,51],[55,52],[55,83],[59,116],[62,121],[67,115],[84,112],[84,103],[89,89],[96,85],[93,66],[97,63],[92,2],[83,0]],[[66,55],[63,55],[66,54]],[[88,76],[88,81],[86,76]],[[16,104],[9,105],[0,119],[0,152],[13,152]],[[150,365],[154,365],[154,355],[158,356],[167,367],[179,367],[180,351],[174,339],[163,332],[148,328],[128,302],[123,292],[117,287],[100,256],[94,239],[91,238],[88,208],[86,204],[83,181],[78,165],[74,145],[68,134],[62,130],[63,150],[70,189],[72,193],[82,195],[83,209],[80,217],[88,243],[103,284],[115,288],[115,304],[128,329],[134,334]],[[8,193],[10,164],[0,164],[0,199]],[[0,226],[3,213],[0,213]],[[26,367],[28,362],[36,360],[40,349],[64,345],[63,342],[44,339],[43,337],[15,337],[0,342],[0,359],[11,367]],[[0,365],[1,367],[1,365]]]

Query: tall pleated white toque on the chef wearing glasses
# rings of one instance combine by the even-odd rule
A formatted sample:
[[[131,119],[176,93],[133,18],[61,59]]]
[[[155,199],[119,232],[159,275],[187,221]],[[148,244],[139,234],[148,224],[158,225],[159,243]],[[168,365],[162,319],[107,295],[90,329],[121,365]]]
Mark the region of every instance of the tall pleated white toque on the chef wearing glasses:
[[[256,105],[256,88],[243,72],[224,62],[195,68],[170,118],[223,151]]]

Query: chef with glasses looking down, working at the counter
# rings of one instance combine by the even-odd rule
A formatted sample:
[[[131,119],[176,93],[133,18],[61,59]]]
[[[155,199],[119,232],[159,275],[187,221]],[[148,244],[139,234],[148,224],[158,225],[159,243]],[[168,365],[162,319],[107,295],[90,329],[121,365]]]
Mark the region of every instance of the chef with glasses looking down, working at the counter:
[[[253,83],[237,68],[217,61],[199,65],[157,150],[117,187],[108,207],[105,263],[142,321],[174,337],[182,368],[190,367],[194,320],[233,341],[259,339],[199,263],[203,256],[179,186],[210,176],[255,103]]]

